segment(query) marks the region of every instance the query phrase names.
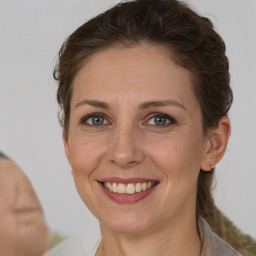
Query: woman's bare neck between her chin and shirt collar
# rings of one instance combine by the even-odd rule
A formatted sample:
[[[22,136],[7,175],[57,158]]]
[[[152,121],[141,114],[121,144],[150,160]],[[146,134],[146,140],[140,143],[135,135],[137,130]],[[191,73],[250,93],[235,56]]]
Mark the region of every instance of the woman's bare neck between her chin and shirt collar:
[[[196,218],[169,223],[140,234],[120,234],[100,225],[102,245],[97,256],[199,256]]]

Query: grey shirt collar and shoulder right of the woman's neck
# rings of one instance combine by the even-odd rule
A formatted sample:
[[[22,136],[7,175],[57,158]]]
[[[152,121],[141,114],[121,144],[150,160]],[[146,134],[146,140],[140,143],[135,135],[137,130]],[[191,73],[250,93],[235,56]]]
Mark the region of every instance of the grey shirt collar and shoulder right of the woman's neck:
[[[199,219],[199,231],[202,239],[201,256],[241,256],[223,239],[212,232],[203,218]]]

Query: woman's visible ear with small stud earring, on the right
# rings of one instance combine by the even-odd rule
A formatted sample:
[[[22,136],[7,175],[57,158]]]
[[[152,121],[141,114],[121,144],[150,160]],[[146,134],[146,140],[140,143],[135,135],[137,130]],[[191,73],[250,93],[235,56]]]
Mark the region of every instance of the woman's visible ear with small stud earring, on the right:
[[[231,132],[230,120],[223,116],[217,127],[211,129],[207,135],[206,149],[201,162],[201,170],[211,171],[225,154]]]

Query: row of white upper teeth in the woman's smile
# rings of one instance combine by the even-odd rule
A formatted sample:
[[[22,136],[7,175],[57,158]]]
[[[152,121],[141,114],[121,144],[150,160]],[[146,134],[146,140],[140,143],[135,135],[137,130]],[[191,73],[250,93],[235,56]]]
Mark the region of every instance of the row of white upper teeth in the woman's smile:
[[[104,182],[104,186],[113,193],[118,194],[135,194],[139,193],[141,191],[145,191],[149,188],[151,188],[155,183],[152,182],[137,182],[137,183],[129,183],[129,184],[123,184],[123,183],[110,183],[110,182]]]

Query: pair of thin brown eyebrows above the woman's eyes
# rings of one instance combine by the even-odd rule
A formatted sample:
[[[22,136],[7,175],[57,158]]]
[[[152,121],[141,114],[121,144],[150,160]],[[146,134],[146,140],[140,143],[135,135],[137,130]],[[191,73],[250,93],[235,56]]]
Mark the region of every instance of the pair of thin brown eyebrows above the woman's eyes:
[[[110,109],[110,106],[103,102],[103,101],[98,101],[98,100],[83,100],[80,101],[79,103],[77,103],[75,105],[75,108],[78,108],[80,106],[83,105],[90,105],[96,108],[103,108],[103,109]],[[174,106],[174,107],[178,107],[181,108],[185,111],[187,111],[187,109],[179,102],[175,101],[175,100],[156,100],[156,101],[147,101],[147,102],[143,102],[142,104],[139,105],[139,109],[147,109],[147,108],[151,108],[151,107],[165,107],[165,106]]]

